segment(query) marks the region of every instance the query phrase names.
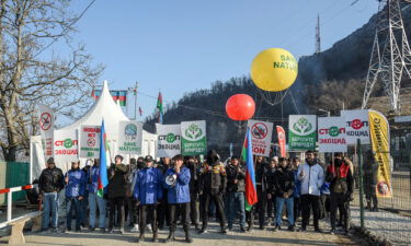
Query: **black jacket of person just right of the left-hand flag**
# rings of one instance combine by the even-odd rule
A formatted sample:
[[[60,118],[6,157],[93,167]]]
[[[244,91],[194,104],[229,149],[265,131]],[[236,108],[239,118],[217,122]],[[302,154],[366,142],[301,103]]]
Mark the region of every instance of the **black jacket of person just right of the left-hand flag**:
[[[109,199],[126,196],[127,166],[112,164],[109,168]]]

